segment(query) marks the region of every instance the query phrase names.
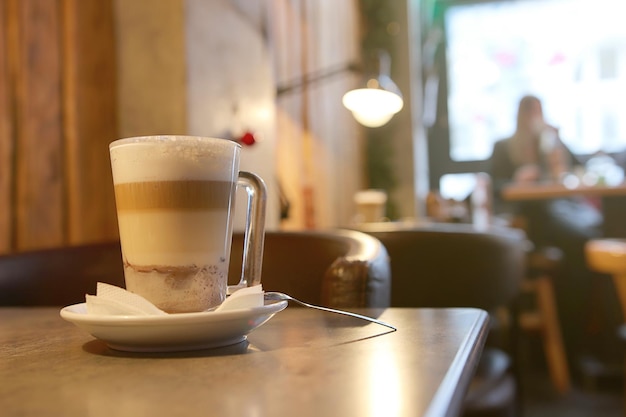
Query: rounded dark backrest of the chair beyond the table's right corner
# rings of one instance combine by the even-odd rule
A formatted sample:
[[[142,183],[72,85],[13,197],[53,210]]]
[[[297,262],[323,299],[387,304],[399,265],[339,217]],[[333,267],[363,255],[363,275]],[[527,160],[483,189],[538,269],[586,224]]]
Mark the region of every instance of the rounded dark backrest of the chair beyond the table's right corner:
[[[520,292],[526,237],[517,229],[373,223],[359,230],[378,238],[389,252],[394,307],[493,311]]]

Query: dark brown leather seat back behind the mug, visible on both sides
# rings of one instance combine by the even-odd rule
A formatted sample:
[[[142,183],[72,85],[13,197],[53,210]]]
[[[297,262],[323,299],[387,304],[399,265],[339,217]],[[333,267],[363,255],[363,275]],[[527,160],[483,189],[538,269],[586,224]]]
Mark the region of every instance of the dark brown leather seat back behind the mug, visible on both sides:
[[[243,236],[233,238],[230,274],[239,280]],[[328,307],[386,307],[390,270],[384,246],[355,231],[268,232],[263,288]],[[235,278],[236,277],[236,278]],[[120,244],[69,246],[0,255],[0,305],[64,306],[85,301],[98,281],[124,285]]]

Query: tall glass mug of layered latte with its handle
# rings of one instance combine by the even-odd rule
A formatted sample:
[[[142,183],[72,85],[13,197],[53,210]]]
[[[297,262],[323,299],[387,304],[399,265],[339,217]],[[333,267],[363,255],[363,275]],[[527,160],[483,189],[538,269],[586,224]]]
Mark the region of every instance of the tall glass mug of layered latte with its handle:
[[[226,298],[235,195],[248,193],[239,286],[261,281],[266,189],[226,139],[144,136],[109,145],[126,289],[169,313]]]

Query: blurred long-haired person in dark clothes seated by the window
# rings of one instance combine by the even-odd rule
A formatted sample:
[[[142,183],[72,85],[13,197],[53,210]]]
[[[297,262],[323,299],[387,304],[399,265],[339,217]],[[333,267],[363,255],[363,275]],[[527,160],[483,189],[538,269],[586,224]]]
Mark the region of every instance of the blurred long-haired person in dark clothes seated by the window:
[[[564,271],[555,281],[557,304],[568,350],[578,346],[584,327],[593,274],[585,263],[584,245],[600,236],[602,216],[584,198],[505,202],[502,187],[511,182],[559,181],[579,164],[543,117],[541,101],[525,96],[519,102],[517,128],[509,138],[495,143],[490,174],[494,212],[524,219],[528,238],[536,245],[551,245],[564,254]],[[574,359],[574,352],[570,360]]]

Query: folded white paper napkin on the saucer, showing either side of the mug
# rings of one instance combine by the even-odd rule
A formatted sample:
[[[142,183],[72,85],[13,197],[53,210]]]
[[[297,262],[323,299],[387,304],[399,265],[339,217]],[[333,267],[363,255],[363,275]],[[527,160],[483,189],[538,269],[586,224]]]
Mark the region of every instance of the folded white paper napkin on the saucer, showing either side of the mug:
[[[96,295],[85,295],[87,314],[146,316],[165,315],[142,296],[114,285],[98,282]],[[213,311],[261,307],[264,304],[261,285],[238,289]]]

